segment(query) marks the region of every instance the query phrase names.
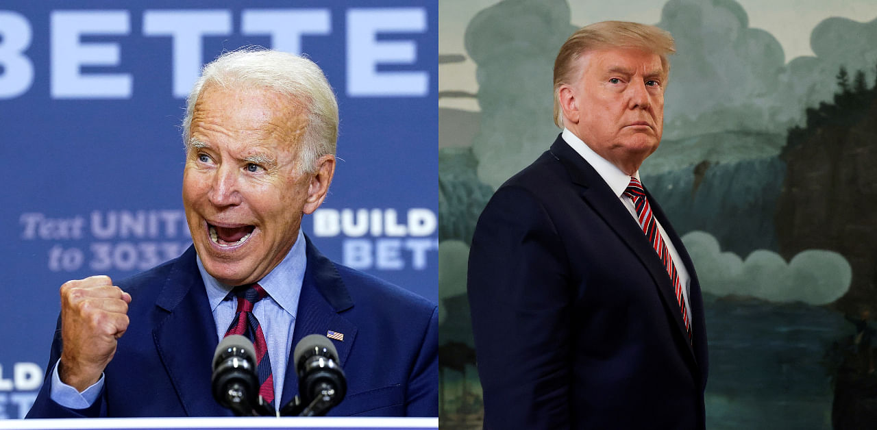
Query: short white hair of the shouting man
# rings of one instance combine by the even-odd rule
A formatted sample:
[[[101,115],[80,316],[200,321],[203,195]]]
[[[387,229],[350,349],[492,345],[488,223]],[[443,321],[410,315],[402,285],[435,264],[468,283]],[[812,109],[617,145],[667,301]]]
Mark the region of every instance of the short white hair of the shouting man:
[[[189,126],[195,104],[208,85],[219,85],[222,88],[266,88],[301,102],[308,110],[307,130],[298,158],[298,168],[304,172],[316,172],[317,159],[335,153],[338,141],[338,102],[323,71],[313,61],[291,53],[246,47],[223,53],[205,65],[201,70],[201,77],[186,98],[182,141],[187,150],[191,144]]]

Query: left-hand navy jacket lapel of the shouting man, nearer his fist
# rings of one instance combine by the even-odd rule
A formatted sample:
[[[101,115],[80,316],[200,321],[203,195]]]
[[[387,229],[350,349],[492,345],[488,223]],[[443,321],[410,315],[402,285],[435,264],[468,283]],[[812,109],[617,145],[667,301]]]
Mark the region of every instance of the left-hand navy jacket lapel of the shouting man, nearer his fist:
[[[153,329],[153,341],[187,415],[232,415],[210,395],[217,331],[195,258],[189,247],[170,271],[155,303],[166,316]]]

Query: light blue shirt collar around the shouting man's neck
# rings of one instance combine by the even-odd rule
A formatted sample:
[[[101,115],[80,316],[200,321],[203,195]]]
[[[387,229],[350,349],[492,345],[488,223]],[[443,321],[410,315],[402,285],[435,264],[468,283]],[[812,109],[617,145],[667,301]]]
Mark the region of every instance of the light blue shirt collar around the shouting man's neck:
[[[210,311],[215,311],[232,291],[234,285],[225,285],[210,276],[204,265],[201,263],[201,257],[196,257],[198,271],[201,272],[201,278],[204,281],[204,287],[207,289],[207,299],[210,300]],[[305,254],[304,234],[302,229],[298,229],[296,243],[283,257],[280,264],[273,271],[270,271],[264,278],[259,280],[259,285],[268,293],[268,296],[280,305],[287,313],[296,317],[298,310],[298,297],[302,293],[302,282],[304,279],[304,269],[307,267],[308,261]]]

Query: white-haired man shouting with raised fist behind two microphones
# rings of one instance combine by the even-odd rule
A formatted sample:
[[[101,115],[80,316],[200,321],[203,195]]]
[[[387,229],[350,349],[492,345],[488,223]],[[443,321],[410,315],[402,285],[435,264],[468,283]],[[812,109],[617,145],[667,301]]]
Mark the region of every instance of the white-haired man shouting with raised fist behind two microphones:
[[[61,285],[28,417],[230,415],[211,396],[210,363],[231,334],[253,339],[260,396],[275,411],[298,391],[291,349],[318,334],[347,378],[330,414],[437,416],[437,307],[332,263],[302,232],[332,182],[338,123],[310,60],[242,50],[205,66],[182,124],[193,246],[118,284]]]

